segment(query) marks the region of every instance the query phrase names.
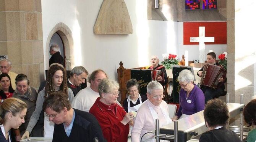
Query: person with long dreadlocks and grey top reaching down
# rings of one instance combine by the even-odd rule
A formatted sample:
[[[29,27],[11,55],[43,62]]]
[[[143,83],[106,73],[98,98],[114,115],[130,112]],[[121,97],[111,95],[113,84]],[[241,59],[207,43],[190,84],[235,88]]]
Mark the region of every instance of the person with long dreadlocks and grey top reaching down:
[[[29,120],[28,127],[21,139],[25,139],[26,137],[29,138],[29,134],[36,125],[40,113],[42,112],[42,105],[44,103],[44,99],[47,98],[50,93],[62,91],[66,94],[66,98],[70,101],[70,103],[74,98],[72,90],[67,87],[66,70],[62,65],[58,63],[53,63],[50,66],[46,80],[47,82],[45,88],[41,92],[39,92],[37,96],[36,109],[33,112]],[[49,121],[49,116],[47,117],[46,115],[44,115],[44,137],[53,137],[53,130],[54,123],[52,121]]]

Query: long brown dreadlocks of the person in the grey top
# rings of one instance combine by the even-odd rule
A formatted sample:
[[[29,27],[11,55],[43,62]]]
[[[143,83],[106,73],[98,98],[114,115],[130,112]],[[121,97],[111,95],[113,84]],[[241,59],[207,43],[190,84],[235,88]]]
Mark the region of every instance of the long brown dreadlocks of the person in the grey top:
[[[53,85],[53,75],[58,70],[61,70],[63,72],[63,81],[62,81],[62,84],[60,85],[59,91],[64,92],[66,95],[68,94],[66,69],[59,63],[53,63],[52,65],[50,65],[49,71],[47,73],[44,98],[47,98],[47,96],[50,93],[55,92],[55,88]],[[68,95],[66,97],[68,98]]]

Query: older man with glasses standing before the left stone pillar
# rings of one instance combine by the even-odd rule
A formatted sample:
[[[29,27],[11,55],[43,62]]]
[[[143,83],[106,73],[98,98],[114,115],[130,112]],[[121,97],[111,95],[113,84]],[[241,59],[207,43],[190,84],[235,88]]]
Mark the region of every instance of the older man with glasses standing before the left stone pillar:
[[[2,74],[2,73],[8,74],[11,78],[11,87],[13,87],[13,89],[15,89],[16,88],[15,78],[18,74],[13,73],[13,72],[10,71],[11,70],[11,65],[12,65],[11,61],[8,60],[8,59],[0,60],[0,71],[1,71],[0,74]]]

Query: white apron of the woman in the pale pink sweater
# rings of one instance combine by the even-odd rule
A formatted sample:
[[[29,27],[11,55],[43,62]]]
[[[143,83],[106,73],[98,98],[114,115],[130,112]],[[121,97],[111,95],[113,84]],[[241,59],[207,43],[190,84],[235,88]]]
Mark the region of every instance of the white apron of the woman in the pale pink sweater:
[[[147,101],[149,101],[149,100],[147,100]],[[148,107],[149,107],[149,110],[151,112],[151,115],[152,115],[152,117],[154,119],[154,122],[155,122],[155,125],[156,125],[156,119],[159,119],[159,117],[157,116],[156,111],[151,106],[148,106]],[[159,127],[162,127],[164,125],[172,123],[172,119],[169,117],[168,111],[167,110],[164,111],[161,107],[160,107],[160,109],[162,110],[162,113],[164,114],[164,118],[165,118],[166,123],[162,124]],[[145,137],[145,136],[143,136],[143,137]],[[141,140],[141,142],[156,142],[156,138],[155,137],[153,137],[153,138],[151,137],[151,138],[148,138],[148,139]],[[169,140],[160,140],[160,142],[169,142]]]

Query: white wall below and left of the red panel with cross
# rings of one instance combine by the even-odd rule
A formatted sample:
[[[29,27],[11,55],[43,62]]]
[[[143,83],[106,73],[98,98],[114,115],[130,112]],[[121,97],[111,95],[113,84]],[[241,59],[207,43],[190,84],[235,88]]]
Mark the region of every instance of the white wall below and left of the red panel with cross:
[[[182,57],[182,54],[185,55],[185,50],[188,50],[189,61],[199,60],[199,45],[183,45],[183,22],[178,22],[178,55],[179,57]],[[217,56],[216,60],[219,60],[218,56],[224,52],[227,52],[227,44],[206,44],[205,50],[204,50],[205,55],[209,53],[209,50],[213,50],[213,52],[215,52]]]

